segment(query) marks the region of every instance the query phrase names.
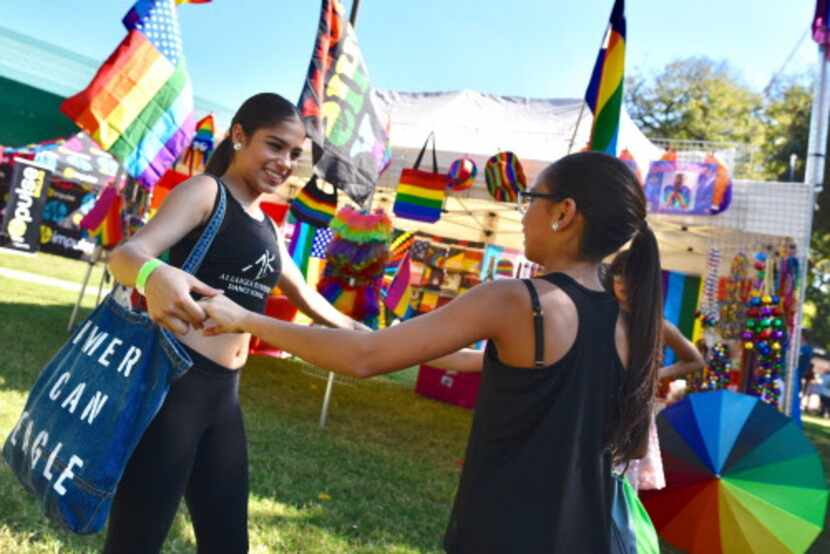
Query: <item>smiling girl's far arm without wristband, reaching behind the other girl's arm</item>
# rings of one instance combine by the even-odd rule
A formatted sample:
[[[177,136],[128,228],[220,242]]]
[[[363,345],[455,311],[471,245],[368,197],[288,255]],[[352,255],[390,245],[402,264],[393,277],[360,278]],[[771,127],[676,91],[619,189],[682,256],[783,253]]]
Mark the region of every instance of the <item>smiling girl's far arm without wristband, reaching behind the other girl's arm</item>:
[[[308,285],[297,264],[291,258],[291,254],[288,253],[285,240],[283,240],[282,233],[278,229],[277,245],[282,263],[282,273],[277,286],[288,297],[288,300],[297,306],[297,309],[322,325],[338,329],[370,330],[362,323],[338,311],[323,295]]]

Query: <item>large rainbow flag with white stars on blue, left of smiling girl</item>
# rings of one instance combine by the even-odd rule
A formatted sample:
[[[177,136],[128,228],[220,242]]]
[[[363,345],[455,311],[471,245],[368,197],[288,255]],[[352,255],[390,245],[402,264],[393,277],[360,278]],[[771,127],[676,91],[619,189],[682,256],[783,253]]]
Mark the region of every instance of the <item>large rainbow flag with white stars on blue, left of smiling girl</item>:
[[[174,0],[138,0],[127,36],[61,111],[146,188],[193,138],[193,91]]]

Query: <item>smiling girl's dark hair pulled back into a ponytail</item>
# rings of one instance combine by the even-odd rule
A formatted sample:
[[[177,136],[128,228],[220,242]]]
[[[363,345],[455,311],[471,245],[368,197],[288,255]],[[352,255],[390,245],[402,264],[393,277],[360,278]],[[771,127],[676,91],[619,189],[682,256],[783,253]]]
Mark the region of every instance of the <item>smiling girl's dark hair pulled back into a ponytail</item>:
[[[233,161],[233,140],[230,134],[231,129],[237,123],[245,131],[245,134],[250,137],[257,129],[299,118],[300,114],[297,107],[279,94],[262,92],[251,96],[242,103],[233,116],[228,135],[214,149],[205,166],[205,173],[221,177],[230,167],[231,161]]]

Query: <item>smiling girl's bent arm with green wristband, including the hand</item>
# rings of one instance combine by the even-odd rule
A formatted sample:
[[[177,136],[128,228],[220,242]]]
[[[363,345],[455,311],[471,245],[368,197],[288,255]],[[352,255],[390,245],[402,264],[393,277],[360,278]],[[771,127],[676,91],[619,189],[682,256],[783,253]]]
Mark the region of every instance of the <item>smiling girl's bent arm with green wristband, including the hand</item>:
[[[207,220],[217,190],[216,181],[204,175],[193,177],[173,189],[155,217],[110,254],[108,267],[115,280],[134,286],[138,270],[146,261],[159,256]],[[205,312],[190,296],[191,292],[212,296],[221,291],[178,268],[163,264],[146,282],[148,315],[175,333],[186,333],[189,325],[200,327]]]

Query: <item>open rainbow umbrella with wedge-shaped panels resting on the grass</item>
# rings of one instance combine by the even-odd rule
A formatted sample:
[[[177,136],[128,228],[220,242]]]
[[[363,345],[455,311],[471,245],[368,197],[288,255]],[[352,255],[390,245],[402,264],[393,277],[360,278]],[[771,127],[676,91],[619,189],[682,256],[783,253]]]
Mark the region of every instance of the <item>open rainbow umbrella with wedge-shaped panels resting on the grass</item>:
[[[729,391],[657,417],[666,488],[642,500],[664,540],[690,553],[804,552],[824,526],[815,447],[783,414]]]

